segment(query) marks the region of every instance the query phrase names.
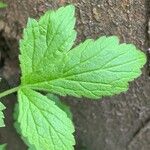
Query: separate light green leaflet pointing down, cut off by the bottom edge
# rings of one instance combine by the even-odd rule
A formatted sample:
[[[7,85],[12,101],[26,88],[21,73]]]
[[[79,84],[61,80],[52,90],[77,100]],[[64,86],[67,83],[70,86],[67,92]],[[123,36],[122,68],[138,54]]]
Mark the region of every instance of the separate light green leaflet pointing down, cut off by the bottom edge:
[[[55,103],[31,89],[18,91],[18,123],[22,136],[36,150],[73,150],[74,127]]]

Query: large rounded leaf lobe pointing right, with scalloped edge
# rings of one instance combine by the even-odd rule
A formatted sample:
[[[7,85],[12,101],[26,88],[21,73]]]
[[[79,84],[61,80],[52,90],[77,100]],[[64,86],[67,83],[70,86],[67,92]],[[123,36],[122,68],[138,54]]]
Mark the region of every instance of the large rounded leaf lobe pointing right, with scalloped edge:
[[[43,70],[27,75],[23,84],[63,96],[100,98],[126,91],[145,62],[145,55],[134,45],[103,36],[67,52],[62,63],[53,64],[59,66],[55,71],[43,64]]]

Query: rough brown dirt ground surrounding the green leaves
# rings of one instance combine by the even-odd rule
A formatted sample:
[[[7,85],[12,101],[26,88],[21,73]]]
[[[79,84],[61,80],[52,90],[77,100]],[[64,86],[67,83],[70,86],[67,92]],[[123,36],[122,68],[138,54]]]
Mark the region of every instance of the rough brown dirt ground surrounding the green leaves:
[[[4,0],[0,10],[0,89],[20,81],[19,39],[27,18],[38,18],[48,9],[72,3],[76,6],[76,44],[87,38],[117,35],[122,42],[134,43],[148,56],[149,0]],[[150,32],[149,32],[150,33]],[[140,78],[128,92],[100,101],[62,97],[73,112],[76,150],[150,150],[150,68],[145,65]],[[4,99],[6,127],[0,129],[0,142],[8,150],[26,150],[13,128],[12,112],[16,95]]]

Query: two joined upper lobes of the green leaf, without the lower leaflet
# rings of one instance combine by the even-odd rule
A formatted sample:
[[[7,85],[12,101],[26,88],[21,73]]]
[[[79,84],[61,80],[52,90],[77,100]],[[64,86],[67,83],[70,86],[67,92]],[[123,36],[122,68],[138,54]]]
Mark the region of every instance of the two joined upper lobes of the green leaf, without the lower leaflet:
[[[119,44],[115,36],[89,39],[70,50],[73,16],[74,7],[67,6],[29,20],[20,43],[22,85],[88,98],[126,91],[141,73],[144,54],[132,44]]]

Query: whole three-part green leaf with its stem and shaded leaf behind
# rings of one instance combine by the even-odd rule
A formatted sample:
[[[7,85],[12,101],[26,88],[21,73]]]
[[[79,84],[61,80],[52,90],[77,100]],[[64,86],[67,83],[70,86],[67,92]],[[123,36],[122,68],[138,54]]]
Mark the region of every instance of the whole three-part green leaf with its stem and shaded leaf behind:
[[[100,99],[124,92],[146,62],[140,50],[115,36],[72,48],[74,25],[72,5],[48,11],[39,21],[29,19],[20,41],[21,85],[0,94],[18,91],[15,127],[29,149],[74,149],[70,109],[53,94]]]

